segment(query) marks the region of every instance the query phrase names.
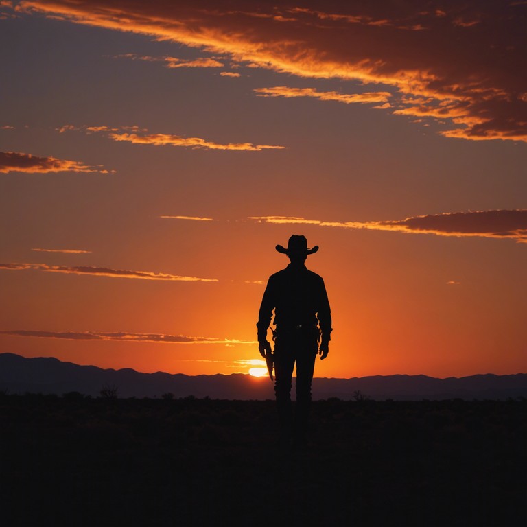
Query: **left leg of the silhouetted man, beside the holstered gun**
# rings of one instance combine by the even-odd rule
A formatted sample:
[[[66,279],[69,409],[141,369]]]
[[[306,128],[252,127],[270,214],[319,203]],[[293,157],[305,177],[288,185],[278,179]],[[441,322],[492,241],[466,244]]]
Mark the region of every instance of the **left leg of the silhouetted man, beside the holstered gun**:
[[[291,386],[294,347],[288,336],[277,336],[274,346],[274,395],[280,421],[281,440],[288,442],[292,432]]]

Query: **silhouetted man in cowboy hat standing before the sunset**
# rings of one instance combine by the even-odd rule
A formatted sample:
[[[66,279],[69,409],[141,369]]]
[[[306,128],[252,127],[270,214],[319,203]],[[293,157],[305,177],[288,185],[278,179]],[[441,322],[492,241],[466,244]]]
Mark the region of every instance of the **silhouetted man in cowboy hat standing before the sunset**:
[[[272,274],[262,298],[258,317],[258,342],[260,354],[265,358],[271,353],[267,340],[274,309],[274,393],[281,425],[281,439],[301,443],[305,436],[311,383],[317,353],[325,359],[331,340],[331,310],[322,277],[305,267],[307,255],[316,253],[318,246],[307,248],[304,236],[292,235],[288,248],[277,245],[279,253],[288,255],[291,263]],[[320,348],[319,348],[320,343]],[[291,387],[296,363],[296,408],[292,427]]]

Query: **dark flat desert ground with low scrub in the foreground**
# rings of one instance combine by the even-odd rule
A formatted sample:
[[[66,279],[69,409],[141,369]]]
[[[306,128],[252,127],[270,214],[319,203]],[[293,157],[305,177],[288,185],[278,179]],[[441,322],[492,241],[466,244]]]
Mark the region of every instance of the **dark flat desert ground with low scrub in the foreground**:
[[[0,396],[5,526],[525,526],[527,400]]]

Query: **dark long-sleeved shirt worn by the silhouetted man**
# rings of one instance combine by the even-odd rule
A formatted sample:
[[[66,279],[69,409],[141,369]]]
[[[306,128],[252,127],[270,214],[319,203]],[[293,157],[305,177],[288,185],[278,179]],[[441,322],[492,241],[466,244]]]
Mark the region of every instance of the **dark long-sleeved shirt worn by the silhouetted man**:
[[[277,329],[320,325],[322,340],[331,340],[331,309],[324,280],[305,265],[289,264],[269,277],[258,316],[258,340],[266,340],[274,309]]]

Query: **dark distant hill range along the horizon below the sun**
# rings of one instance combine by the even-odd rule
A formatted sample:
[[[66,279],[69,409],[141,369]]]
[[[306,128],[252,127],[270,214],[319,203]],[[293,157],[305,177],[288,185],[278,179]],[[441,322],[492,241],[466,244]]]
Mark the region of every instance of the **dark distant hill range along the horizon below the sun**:
[[[194,396],[211,399],[272,399],[268,379],[250,375],[183,375],[139,373],[130,368],[79,366],[55,358],[24,358],[0,353],[0,390],[7,393],[80,392],[97,396],[104,386],[117,388],[118,397]],[[426,375],[376,375],[351,379],[313,379],[314,399],[353,399],[357,391],[371,399],[507,399],[527,397],[527,374],[471,375],[436,379]],[[293,388],[294,393],[294,388]]]

